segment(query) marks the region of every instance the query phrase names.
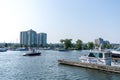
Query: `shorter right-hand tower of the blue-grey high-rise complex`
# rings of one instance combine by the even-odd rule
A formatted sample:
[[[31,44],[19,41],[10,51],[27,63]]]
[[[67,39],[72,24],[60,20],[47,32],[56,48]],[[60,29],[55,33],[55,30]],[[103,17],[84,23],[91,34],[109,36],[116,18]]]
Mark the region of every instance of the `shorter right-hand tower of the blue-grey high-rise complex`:
[[[37,34],[37,45],[45,47],[47,45],[47,34],[39,33]]]

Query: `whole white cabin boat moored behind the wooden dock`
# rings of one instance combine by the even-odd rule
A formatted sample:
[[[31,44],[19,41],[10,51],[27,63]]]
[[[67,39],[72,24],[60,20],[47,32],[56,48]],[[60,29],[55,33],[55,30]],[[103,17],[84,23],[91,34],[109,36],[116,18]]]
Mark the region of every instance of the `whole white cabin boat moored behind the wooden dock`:
[[[111,51],[90,51],[86,56],[80,56],[83,63],[93,63],[108,66],[120,66],[120,64],[112,59]]]

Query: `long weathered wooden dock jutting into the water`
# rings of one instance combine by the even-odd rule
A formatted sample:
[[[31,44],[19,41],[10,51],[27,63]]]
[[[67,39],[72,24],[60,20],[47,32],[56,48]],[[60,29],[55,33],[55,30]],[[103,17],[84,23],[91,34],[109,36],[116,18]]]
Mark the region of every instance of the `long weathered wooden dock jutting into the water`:
[[[68,61],[68,60],[58,60],[59,64],[71,65],[71,66],[78,66],[78,67],[85,67],[91,68],[96,70],[120,73],[120,67],[115,66],[106,66],[106,65],[99,65],[99,64],[92,64],[92,63],[82,63],[82,62],[75,62],[75,61]]]

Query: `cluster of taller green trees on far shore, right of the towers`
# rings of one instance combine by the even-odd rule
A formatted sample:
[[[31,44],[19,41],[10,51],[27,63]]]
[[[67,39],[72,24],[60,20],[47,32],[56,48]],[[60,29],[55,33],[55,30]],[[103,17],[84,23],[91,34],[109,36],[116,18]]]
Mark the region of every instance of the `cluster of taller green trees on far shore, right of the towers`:
[[[75,43],[72,43],[72,39],[61,39],[61,44],[63,44],[64,49],[75,49],[75,50],[88,50],[88,49],[95,49],[99,47],[99,44],[95,44],[94,42],[88,42],[86,44],[83,43],[82,40],[78,39]],[[110,44],[103,44],[102,49],[109,49],[112,46]]]

